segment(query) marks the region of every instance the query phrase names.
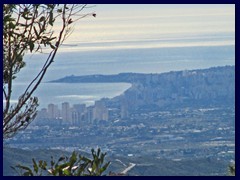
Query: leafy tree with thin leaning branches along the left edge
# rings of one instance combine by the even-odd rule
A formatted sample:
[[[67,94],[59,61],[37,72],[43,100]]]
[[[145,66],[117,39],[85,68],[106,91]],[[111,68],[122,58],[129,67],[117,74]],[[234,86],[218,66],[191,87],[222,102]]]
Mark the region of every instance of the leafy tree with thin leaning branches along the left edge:
[[[60,45],[72,32],[72,24],[93,13],[80,14],[81,4],[4,4],[3,5],[3,138],[25,129],[36,117],[38,98],[33,96]],[[55,26],[58,23],[60,30]],[[13,80],[26,66],[26,53],[47,53],[42,68],[18,102],[11,103]]]

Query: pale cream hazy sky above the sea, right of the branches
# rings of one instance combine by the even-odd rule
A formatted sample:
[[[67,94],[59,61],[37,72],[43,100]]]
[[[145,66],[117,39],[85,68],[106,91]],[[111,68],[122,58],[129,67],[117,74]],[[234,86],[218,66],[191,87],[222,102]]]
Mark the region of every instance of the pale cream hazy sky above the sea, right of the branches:
[[[235,32],[235,5],[98,4],[86,10],[91,11],[97,17],[77,22],[66,43],[233,36]]]

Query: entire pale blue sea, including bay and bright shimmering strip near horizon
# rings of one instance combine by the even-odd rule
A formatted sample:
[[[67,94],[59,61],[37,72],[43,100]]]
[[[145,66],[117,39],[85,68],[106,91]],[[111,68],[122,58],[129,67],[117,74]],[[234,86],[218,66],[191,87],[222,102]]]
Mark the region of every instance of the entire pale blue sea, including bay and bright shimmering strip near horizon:
[[[143,39],[65,44],[59,50],[43,82],[34,93],[39,108],[53,103],[93,105],[131,87],[128,83],[48,83],[65,76],[118,74],[123,72],[163,73],[235,65],[234,35],[218,34],[182,38]],[[13,85],[12,103],[41,69],[47,54],[26,55],[26,67]]]

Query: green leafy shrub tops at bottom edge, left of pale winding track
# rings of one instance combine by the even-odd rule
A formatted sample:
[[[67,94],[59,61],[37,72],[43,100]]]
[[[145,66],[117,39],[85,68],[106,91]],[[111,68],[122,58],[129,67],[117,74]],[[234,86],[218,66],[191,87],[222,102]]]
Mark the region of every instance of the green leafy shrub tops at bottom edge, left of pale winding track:
[[[92,159],[74,151],[70,157],[62,156],[57,162],[51,157],[50,167],[46,161],[32,159],[32,169],[22,165],[12,168],[22,176],[102,176],[110,164],[104,163],[105,156],[100,149],[97,152],[92,149]]]

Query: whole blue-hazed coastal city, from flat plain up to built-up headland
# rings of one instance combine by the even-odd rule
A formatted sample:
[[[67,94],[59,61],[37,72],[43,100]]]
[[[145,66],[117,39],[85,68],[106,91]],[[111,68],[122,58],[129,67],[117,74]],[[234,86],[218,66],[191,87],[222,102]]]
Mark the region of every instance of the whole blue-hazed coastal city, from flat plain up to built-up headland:
[[[111,76],[87,79],[106,82]],[[69,85],[73,80],[79,78],[64,78]],[[235,159],[233,66],[120,74],[115,80],[131,81],[132,86],[120,96],[102,98],[88,107],[51,102],[39,110],[25,131],[7,143],[30,150],[90,152],[100,147],[109,156],[130,160],[154,157],[185,162],[202,158],[226,165]]]

